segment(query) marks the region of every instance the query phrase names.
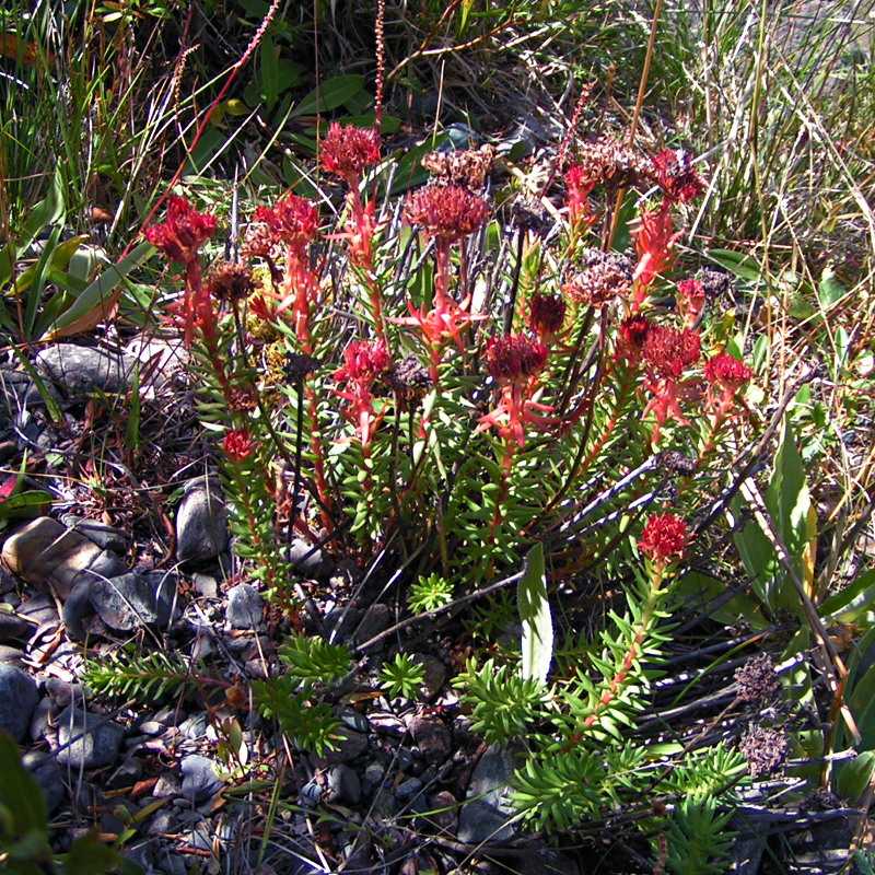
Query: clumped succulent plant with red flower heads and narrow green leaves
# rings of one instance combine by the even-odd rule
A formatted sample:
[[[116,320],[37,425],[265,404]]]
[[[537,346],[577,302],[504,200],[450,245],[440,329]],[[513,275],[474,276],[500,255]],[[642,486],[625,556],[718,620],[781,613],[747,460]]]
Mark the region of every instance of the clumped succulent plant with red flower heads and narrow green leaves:
[[[626,607],[573,660],[560,629],[546,677],[521,677],[512,658],[460,676],[489,739],[529,739],[515,796],[526,818],[568,828],[656,785],[646,745],[623,754],[621,727],[652,693],[674,584],[744,440],[754,374],[709,326],[713,271],[677,268],[685,205],[703,190],[689,156],[582,143],[552,222],[546,191],[502,192],[497,212],[491,158],[431,155],[431,183],[393,198],[376,131],[332,126],[319,165],[343,186],[335,226],[293,194],[259,206],[244,260],[206,282],[213,220],[174,200],[147,234],[185,266],[173,319],[208,386],[240,573],[300,628],[293,540],[380,569],[425,612],[516,580],[533,545],[556,609],[563,594],[625,588]],[[657,192],[630,252],[602,233],[621,188]],[[434,597],[423,581],[440,581]],[[410,692],[400,665],[384,679]],[[290,735],[320,749],[332,679],[290,692],[322,721],[307,728],[295,708]],[[259,689],[282,722],[282,696]],[[607,777],[594,759],[606,744]],[[563,801],[570,785],[587,789]]]

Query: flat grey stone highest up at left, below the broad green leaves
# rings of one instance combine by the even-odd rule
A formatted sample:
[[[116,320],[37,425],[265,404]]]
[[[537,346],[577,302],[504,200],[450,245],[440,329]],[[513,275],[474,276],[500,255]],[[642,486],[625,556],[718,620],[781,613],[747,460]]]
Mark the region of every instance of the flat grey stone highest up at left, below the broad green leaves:
[[[90,395],[95,389],[126,392],[133,372],[133,361],[124,354],[75,343],[56,343],[40,350],[35,365],[68,396]]]

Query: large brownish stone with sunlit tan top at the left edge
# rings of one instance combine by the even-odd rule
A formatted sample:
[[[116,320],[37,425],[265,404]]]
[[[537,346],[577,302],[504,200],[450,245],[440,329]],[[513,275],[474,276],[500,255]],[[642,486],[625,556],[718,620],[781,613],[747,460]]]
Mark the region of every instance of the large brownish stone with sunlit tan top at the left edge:
[[[125,563],[84,535],[40,516],[3,544],[2,561],[36,590],[70,596],[77,583],[125,574]]]

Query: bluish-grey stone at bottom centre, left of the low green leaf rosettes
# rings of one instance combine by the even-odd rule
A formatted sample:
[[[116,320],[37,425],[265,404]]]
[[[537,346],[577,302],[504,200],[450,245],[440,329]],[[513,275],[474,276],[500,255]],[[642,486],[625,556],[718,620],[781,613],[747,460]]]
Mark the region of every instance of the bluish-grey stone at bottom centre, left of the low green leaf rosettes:
[[[509,841],[514,836],[511,819],[516,814],[508,796],[521,746],[490,745],[471,774],[465,805],[458,818],[458,840],[471,844]]]

